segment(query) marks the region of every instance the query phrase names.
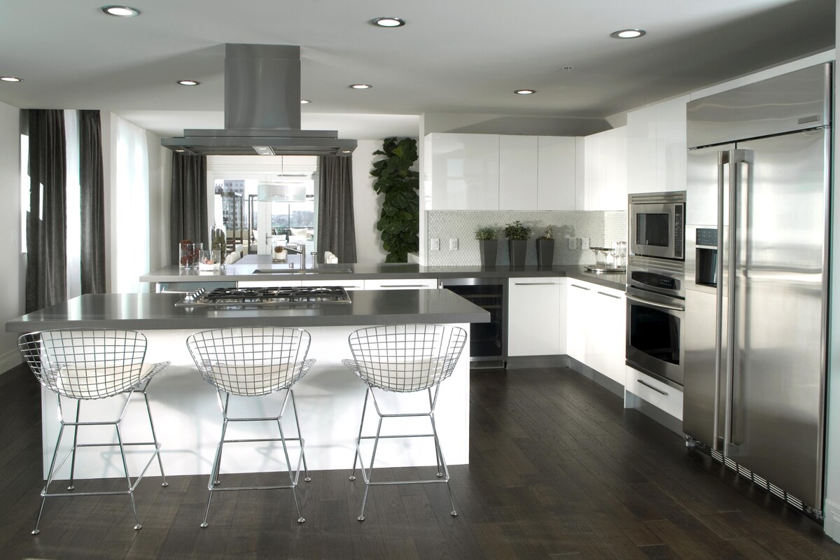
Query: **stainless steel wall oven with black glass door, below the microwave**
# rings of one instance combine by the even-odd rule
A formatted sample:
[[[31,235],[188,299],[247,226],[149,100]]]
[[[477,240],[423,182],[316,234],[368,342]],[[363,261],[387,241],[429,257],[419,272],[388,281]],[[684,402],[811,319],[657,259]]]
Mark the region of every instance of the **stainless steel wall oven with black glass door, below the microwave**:
[[[683,385],[685,289],[681,262],[631,256],[627,267],[627,365]]]

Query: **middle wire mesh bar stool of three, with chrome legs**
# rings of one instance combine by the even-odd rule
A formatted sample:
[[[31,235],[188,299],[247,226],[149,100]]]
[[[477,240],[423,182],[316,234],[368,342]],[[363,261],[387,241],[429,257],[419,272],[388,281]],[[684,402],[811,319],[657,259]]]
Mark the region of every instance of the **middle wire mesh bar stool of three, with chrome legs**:
[[[216,447],[210,480],[207,482],[207,510],[204,512],[202,527],[207,526],[210,502],[213,492],[222,490],[268,490],[289,489],[297,508],[297,521],[306,521],[301,514],[297,501],[297,480],[301,474],[301,465],[309,482],[307,458],[303,451],[305,440],[301,436],[301,425],[297,419],[295,394],[291,389],[315,364],[314,359],[307,359],[311,338],[307,331],[297,328],[279,327],[241,327],[223,328],[196,332],[186,339],[192,359],[198,371],[207,383],[213,385],[218,394],[218,405],[222,411],[222,436]],[[277,416],[233,417],[229,416],[230,396],[255,397],[285,391],[280,413]],[[295,418],[297,437],[286,437],[281,418],[286,406],[291,402],[291,411]],[[228,422],[273,421],[280,431],[280,437],[260,439],[225,439]],[[220,486],[219,470],[222,465],[222,449],[225,443],[281,442],[289,484],[271,486]],[[287,442],[298,442],[300,454],[297,468],[292,468]]]

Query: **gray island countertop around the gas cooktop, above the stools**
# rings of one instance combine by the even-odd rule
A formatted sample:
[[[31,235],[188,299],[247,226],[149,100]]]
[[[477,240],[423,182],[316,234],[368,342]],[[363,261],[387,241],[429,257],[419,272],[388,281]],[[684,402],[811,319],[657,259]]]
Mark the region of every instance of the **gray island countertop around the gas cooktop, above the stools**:
[[[131,330],[220,327],[335,327],[411,322],[488,322],[490,313],[449,290],[360,290],[351,303],[219,310],[176,307],[181,294],[87,294],[6,322],[7,332],[51,328]]]

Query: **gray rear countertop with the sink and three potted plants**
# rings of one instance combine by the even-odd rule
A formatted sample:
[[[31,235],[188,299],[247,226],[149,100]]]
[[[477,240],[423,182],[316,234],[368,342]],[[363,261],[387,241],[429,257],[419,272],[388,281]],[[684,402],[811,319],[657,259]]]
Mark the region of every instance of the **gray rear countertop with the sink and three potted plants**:
[[[271,272],[256,272],[257,270]],[[179,270],[177,265],[165,266],[140,276],[141,282],[241,282],[245,280],[374,280],[408,278],[528,278],[539,276],[567,276],[598,285],[625,289],[625,273],[588,272],[580,265],[538,266],[421,266],[419,264],[318,264],[315,269],[290,270],[287,264],[272,264],[270,255],[248,255],[225,270],[200,272]]]

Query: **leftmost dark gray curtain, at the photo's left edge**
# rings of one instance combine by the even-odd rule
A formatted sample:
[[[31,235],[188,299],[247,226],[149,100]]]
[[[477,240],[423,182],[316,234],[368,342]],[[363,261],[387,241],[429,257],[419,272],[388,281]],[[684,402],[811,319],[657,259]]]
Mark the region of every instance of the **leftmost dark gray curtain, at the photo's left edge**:
[[[64,111],[29,109],[26,312],[67,299]]]

